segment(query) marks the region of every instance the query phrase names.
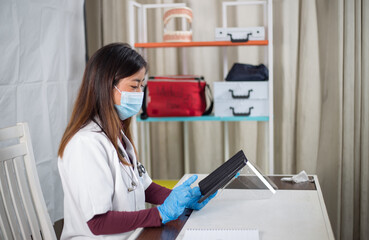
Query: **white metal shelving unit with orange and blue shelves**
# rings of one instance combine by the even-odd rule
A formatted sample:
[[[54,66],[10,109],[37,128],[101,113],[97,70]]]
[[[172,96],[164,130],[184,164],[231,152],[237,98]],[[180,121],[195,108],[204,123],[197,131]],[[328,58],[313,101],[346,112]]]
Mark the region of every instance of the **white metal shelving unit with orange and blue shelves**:
[[[274,172],[274,141],[273,141],[273,18],[272,18],[272,0],[259,0],[259,1],[242,1],[242,2],[223,2],[223,28],[227,27],[227,7],[239,6],[239,5],[262,5],[264,8],[264,26],[266,28],[266,39],[259,41],[248,41],[248,42],[236,42],[230,41],[202,41],[202,42],[147,42],[147,10],[154,8],[174,8],[174,7],[185,7],[183,3],[174,4],[139,4],[133,1],[129,3],[129,32],[130,32],[130,44],[137,49],[141,49],[143,55],[146,57],[147,48],[188,48],[188,47],[221,47],[223,48],[223,79],[225,79],[228,72],[228,59],[226,54],[227,47],[234,46],[265,46],[267,48],[265,64],[269,69],[269,116],[263,117],[216,117],[216,116],[200,116],[200,117],[164,117],[164,118],[153,118],[149,117],[146,120],[142,120],[137,117],[136,121],[141,123],[141,142],[140,147],[142,148],[142,161],[146,168],[150,171],[150,143],[149,143],[149,124],[147,122],[183,122],[184,124],[184,168],[185,173],[189,172],[189,157],[188,157],[188,123],[193,121],[220,121],[223,122],[224,127],[224,159],[229,158],[229,144],[228,144],[228,122],[236,121],[260,121],[268,123],[268,135],[269,135],[269,174]],[[136,21],[135,21],[135,8],[137,8],[137,40],[136,36]],[[185,22],[183,22],[185,24]],[[184,61],[185,62],[185,61]],[[135,125],[135,124],[133,124]],[[137,136],[137,129],[134,129],[134,134]]]

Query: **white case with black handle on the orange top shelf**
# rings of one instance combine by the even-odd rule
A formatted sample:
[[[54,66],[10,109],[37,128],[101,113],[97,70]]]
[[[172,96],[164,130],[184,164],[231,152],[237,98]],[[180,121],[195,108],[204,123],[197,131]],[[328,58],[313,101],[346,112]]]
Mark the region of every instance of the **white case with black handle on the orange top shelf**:
[[[216,41],[230,41],[231,36],[234,40],[265,40],[264,27],[248,27],[248,28],[216,28]]]

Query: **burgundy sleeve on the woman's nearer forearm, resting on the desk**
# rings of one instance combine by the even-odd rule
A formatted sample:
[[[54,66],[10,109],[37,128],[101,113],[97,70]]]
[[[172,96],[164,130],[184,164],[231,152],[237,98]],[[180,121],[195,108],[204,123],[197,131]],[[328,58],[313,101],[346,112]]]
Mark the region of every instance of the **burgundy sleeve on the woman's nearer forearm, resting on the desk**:
[[[158,227],[161,220],[155,207],[135,212],[108,211],[95,215],[87,225],[93,234],[105,235],[129,232],[139,227]]]

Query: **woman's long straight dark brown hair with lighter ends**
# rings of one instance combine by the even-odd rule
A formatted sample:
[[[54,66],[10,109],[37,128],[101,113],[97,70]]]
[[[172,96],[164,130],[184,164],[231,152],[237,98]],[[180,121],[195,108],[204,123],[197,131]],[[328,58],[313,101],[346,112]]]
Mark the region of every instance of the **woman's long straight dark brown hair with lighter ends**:
[[[132,141],[131,118],[124,120],[114,108],[113,88],[119,80],[132,76],[142,68],[147,70],[147,63],[143,57],[128,44],[113,43],[100,48],[88,61],[79,94],[74,104],[71,119],[62,137],[58,156],[63,157],[64,149],[70,139],[95,117],[100,120],[102,131],[109,138],[118,157],[123,164],[122,154],[119,151],[117,140],[122,139],[121,130]]]

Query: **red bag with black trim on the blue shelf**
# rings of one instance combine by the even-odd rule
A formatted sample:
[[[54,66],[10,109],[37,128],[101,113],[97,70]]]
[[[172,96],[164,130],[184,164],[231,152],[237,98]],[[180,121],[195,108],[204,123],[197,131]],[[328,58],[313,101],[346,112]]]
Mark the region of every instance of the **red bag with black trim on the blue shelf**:
[[[206,89],[210,92],[202,76],[149,77],[144,90],[141,119],[208,115],[212,111],[213,100],[206,109]]]

